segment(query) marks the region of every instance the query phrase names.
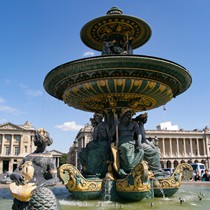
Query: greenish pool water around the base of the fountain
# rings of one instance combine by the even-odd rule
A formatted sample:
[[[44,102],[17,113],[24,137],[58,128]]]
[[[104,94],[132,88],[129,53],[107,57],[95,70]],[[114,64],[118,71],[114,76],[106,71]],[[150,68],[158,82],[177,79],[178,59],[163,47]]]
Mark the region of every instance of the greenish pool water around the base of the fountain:
[[[111,201],[74,201],[65,187],[53,189],[62,210],[208,210],[210,209],[210,182],[183,183],[179,191],[170,198],[151,198],[135,203]],[[181,202],[182,201],[182,202]],[[0,189],[0,210],[10,210],[12,197],[8,189]]]

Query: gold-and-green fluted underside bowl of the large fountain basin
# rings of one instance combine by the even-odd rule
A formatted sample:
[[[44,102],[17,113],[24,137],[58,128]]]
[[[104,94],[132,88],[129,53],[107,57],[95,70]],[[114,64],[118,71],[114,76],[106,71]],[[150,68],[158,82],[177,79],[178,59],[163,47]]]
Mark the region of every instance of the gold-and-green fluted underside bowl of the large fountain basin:
[[[65,90],[63,101],[69,106],[85,111],[97,112],[109,108],[111,101],[107,99],[112,98],[115,107],[129,107],[135,112],[140,112],[155,108],[160,102],[169,101],[173,96],[168,86],[142,79],[109,78],[80,84],[82,85]]]

